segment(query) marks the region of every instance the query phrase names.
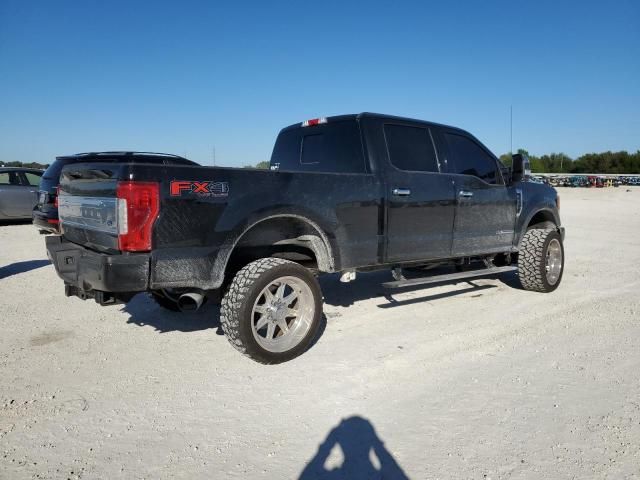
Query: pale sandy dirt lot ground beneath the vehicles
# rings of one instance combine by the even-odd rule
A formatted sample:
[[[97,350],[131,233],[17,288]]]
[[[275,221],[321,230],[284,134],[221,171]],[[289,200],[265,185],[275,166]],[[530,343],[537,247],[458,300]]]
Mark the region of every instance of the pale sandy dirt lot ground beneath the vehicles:
[[[640,477],[640,188],[560,193],[555,293],[327,277],[324,335],[269,367],[213,306],[65,298],[0,227],[0,477]]]

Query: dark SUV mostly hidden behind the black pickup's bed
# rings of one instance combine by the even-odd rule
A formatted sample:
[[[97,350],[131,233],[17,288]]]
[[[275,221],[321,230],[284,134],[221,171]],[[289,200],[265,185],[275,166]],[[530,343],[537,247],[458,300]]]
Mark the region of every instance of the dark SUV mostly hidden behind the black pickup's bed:
[[[33,209],[33,224],[41,233],[59,233],[58,185],[65,165],[81,162],[131,162],[160,165],[198,165],[186,158],[167,153],[149,152],[93,152],[57,157],[42,176],[38,202]]]

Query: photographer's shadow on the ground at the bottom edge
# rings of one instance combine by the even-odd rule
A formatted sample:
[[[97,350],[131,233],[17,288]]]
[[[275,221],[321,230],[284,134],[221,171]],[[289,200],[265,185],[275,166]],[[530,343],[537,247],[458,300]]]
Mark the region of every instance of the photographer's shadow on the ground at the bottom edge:
[[[335,458],[338,456],[342,458]],[[369,478],[409,477],[380,440],[371,422],[360,416],[345,418],[331,429],[298,477],[299,480]]]

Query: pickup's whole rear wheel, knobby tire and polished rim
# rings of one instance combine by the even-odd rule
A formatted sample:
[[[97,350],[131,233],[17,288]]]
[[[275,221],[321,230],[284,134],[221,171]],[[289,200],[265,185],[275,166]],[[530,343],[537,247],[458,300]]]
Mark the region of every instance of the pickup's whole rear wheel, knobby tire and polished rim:
[[[220,322],[234,348],[266,364],[302,354],[322,318],[322,293],[313,274],[281,258],[242,268],[222,299]]]

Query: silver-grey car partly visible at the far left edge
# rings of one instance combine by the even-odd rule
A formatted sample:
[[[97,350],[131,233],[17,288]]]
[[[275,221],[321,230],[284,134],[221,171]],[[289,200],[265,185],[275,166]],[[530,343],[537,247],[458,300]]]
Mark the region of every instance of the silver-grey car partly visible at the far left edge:
[[[0,220],[31,218],[42,170],[0,167]]]

